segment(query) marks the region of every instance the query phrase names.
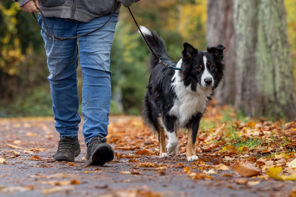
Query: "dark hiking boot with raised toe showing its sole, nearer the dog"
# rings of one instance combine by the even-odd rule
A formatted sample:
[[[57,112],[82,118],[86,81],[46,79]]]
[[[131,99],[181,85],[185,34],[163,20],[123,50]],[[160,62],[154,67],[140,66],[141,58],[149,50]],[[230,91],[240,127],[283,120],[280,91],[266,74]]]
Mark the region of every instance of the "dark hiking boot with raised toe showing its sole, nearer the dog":
[[[87,145],[86,164],[102,166],[114,158],[114,151],[105,140],[99,136],[93,137]]]

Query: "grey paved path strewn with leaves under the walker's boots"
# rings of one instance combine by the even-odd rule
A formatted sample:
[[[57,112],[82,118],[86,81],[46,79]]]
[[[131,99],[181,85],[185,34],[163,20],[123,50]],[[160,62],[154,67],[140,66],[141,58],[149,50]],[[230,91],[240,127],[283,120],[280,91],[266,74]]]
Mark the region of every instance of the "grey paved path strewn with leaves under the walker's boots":
[[[133,136],[134,133],[126,136],[129,132],[124,128],[130,121],[141,120],[137,117],[110,117],[108,140],[116,148],[117,157],[105,166],[87,167],[84,158],[86,146],[81,131],[78,138],[82,152],[75,162],[55,162],[52,155],[59,138],[52,118],[0,119],[0,158],[5,157],[6,161],[0,163],[0,196],[292,195],[294,181],[268,179],[258,182],[260,178],[243,178],[231,170],[217,170],[216,173],[209,173],[208,178],[192,179],[185,171],[195,172],[195,167],[186,161],[184,154],[167,159],[135,154],[143,150],[142,145],[125,143],[140,137],[149,148],[156,139],[153,135]],[[121,127],[113,124],[118,122]],[[139,132],[141,129],[139,126]],[[122,135],[118,136],[119,133]],[[125,142],[125,137],[131,140]],[[19,148],[11,148],[7,144]],[[153,164],[155,166],[148,167]]]

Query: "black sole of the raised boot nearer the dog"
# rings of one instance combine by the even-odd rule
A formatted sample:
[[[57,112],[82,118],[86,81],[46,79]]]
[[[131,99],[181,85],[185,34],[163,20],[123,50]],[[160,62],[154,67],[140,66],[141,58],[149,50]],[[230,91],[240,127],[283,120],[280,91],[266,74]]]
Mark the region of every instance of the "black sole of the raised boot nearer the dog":
[[[100,144],[91,154],[86,164],[89,166],[102,166],[105,163],[112,161],[114,152],[109,144]]]

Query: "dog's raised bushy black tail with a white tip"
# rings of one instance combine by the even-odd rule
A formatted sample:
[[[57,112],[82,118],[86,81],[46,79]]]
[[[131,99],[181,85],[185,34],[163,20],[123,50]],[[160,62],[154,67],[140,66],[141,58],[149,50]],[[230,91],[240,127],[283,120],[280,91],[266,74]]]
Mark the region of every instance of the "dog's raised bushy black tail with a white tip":
[[[145,36],[145,39],[151,46],[152,50],[155,51],[159,59],[161,59],[163,62],[171,61],[168,54],[167,54],[167,48],[163,41],[163,39],[157,35],[157,33],[153,30],[150,30],[144,26],[140,26],[140,29],[142,33]],[[150,67],[149,71],[151,72],[153,68],[158,64],[159,62],[156,60],[154,55],[151,53],[150,55]]]

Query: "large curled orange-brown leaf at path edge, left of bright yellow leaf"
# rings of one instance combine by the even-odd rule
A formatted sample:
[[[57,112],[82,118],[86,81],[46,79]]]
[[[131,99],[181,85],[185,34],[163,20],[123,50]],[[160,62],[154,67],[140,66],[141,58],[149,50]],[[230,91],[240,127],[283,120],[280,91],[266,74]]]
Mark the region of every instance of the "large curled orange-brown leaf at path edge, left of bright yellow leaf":
[[[229,166],[230,169],[236,171],[244,177],[261,175],[261,170],[254,167],[251,163],[239,163],[236,166]]]

